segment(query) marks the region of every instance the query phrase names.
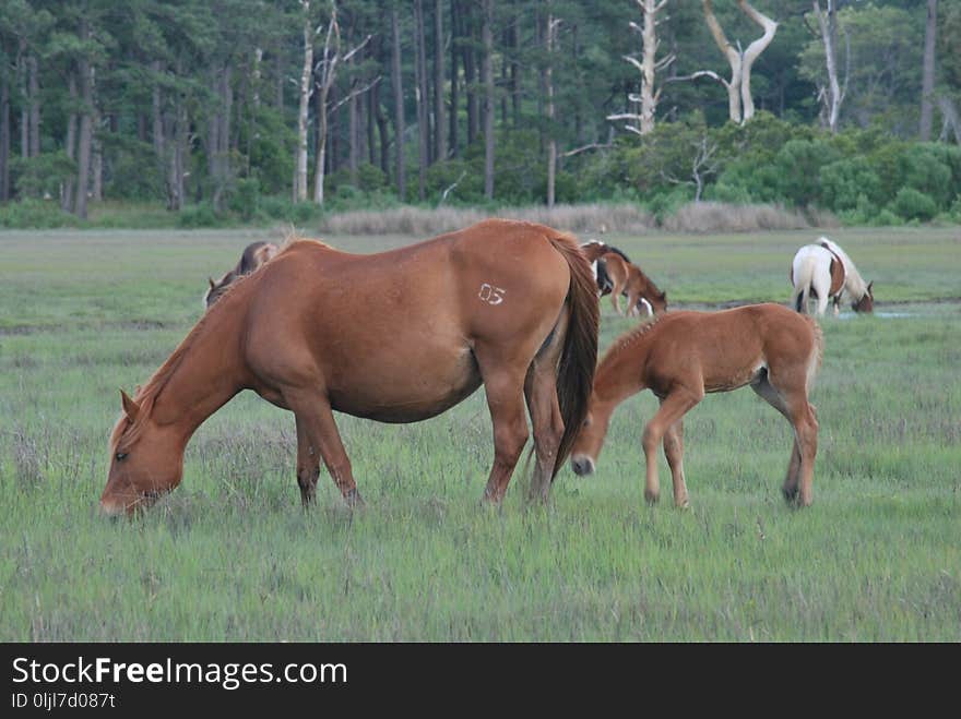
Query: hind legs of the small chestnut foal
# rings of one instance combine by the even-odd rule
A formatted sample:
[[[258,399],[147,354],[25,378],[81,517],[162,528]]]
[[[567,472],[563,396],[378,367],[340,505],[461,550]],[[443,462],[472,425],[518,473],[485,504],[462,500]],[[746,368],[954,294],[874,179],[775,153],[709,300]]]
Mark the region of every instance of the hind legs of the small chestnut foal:
[[[797,380],[775,386],[770,375],[767,375],[752,384],[751,390],[781,412],[794,429],[794,445],[787,463],[787,476],[784,478],[784,499],[809,506],[812,501],[815,456],[818,452],[818,420],[814,407],[807,400],[807,391],[804,387],[806,378],[802,375],[799,381],[800,387],[796,386]]]

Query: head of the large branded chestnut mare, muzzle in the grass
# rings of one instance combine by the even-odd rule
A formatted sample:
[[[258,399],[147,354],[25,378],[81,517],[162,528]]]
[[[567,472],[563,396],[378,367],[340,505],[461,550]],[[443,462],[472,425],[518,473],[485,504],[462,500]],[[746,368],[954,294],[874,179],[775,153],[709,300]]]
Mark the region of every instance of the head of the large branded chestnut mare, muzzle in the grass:
[[[110,436],[110,471],[100,495],[108,515],[131,515],[156,502],[183,475],[182,431],[158,424],[149,408],[120,391],[123,414]]]

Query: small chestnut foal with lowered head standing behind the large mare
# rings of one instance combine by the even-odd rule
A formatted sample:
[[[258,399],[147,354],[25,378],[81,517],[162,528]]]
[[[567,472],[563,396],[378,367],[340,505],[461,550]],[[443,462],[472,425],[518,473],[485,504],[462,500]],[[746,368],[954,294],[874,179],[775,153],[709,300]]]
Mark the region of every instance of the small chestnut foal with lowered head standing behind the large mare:
[[[657,444],[663,439],[674,503],[687,506],[683,417],[705,393],[748,384],[794,428],[784,496],[807,506],[818,450],[818,422],[808,392],[822,350],[817,323],[780,304],[672,312],[642,324],[615,340],[597,368],[590,411],[571,451],[573,470],[594,471],[614,409],[641,390],[651,390],[661,409],[643,433],[644,496],[653,503],[660,494]]]

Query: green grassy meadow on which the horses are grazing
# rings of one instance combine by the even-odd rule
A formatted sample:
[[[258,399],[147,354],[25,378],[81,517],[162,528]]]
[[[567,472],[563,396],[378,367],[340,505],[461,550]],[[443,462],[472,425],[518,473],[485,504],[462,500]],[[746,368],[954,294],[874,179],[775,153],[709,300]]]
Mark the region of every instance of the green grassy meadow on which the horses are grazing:
[[[565,468],[541,505],[519,472],[482,506],[479,391],[418,424],[340,417],[367,506],[322,477],[305,513],[293,416],[246,393],[197,433],[175,493],[105,520],[117,388],[264,235],[0,233],[0,640],[961,640],[961,229],[832,232],[877,316],[822,322],[809,510],[781,499],[787,423],[746,390],[688,416],[687,512],[642,500],[649,394],[615,415],[594,477]],[[814,237],[606,239],[676,307],[786,301]],[[603,310],[602,348],[632,324]]]

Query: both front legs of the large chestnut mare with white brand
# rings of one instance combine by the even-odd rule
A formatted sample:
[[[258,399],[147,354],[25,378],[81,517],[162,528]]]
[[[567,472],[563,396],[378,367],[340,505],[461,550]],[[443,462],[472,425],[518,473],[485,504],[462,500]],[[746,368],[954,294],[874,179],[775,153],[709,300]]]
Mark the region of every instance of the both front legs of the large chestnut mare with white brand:
[[[284,397],[297,419],[297,483],[301,501],[308,504],[313,500],[320,474],[319,454],[344,501],[351,506],[363,504],[327,397],[302,391],[284,393]]]

